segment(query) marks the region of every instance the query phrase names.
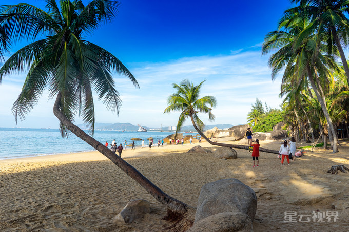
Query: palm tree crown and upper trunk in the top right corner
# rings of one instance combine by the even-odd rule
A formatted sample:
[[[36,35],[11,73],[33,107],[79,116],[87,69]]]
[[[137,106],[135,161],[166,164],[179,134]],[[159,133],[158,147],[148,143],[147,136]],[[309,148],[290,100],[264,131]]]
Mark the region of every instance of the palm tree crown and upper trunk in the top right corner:
[[[328,55],[336,55],[336,46],[342,60],[346,78],[349,80],[349,67],[345,58],[345,54],[341,45],[348,45],[349,38],[349,19],[346,15],[349,13],[349,2],[345,0],[292,0],[292,3],[299,3],[299,6],[286,11],[300,17],[301,19],[309,18],[312,21],[312,28],[316,28],[317,46],[323,41],[326,42],[326,52]],[[305,31],[305,35],[311,30]],[[316,51],[315,51],[316,52]]]

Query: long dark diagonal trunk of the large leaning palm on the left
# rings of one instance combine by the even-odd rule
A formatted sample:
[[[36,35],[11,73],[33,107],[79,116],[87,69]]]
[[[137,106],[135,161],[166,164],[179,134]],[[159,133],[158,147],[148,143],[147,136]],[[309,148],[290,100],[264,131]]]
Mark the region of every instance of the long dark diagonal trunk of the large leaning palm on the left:
[[[57,95],[56,101],[53,107],[54,115],[61,121],[61,123],[66,126],[66,128],[75,134],[77,137],[84,140],[86,143],[91,145],[95,150],[102,153],[108,159],[110,159],[114,164],[121,168],[129,177],[138,182],[148,193],[151,194],[155,199],[157,199],[160,203],[167,207],[167,209],[172,212],[176,212],[178,214],[185,214],[191,206],[170,197],[165,194],[160,188],[151,183],[145,176],[143,176],[137,169],[135,169],[132,165],[127,163],[125,160],[120,158],[114,152],[109,150],[105,145],[95,140],[88,134],[86,134],[83,130],[81,130],[78,126],[71,123],[67,117],[60,111],[61,104],[61,93]]]

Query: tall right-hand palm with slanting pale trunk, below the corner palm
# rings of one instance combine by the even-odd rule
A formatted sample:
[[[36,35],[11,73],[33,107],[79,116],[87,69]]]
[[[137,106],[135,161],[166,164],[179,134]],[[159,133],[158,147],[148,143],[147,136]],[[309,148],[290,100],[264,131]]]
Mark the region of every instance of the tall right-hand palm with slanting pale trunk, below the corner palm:
[[[302,79],[308,79],[333,134],[333,152],[338,152],[337,133],[327,111],[324,91],[320,81],[320,76],[323,77],[324,81],[328,80],[328,76],[331,76],[329,68],[332,70],[338,69],[334,58],[321,53],[324,46],[322,44],[317,46],[317,37],[308,32],[309,30],[314,31],[313,24],[309,19],[300,20],[289,14],[282,18],[279,25],[281,28],[284,27],[285,31],[278,30],[268,33],[262,47],[262,54],[279,49],[269,58],[268,64],[272,68],[272,79],[275,79],[283,69],[285,71],[282,85],[290,83],[298,86]],[[308,32],[306,37],[305,32]],[[316,49],[319,51],[315,52]]]

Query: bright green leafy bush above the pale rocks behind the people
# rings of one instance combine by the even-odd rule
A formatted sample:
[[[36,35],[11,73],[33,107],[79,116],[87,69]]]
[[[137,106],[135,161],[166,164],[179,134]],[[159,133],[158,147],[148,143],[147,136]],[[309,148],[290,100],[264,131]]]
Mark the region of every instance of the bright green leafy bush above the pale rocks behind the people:
[[[274,109],[263,118],[259,124],[255,125],[253,132],[268,132],[273,131],[273,127],[284,120],[285,113],[281,110]]]

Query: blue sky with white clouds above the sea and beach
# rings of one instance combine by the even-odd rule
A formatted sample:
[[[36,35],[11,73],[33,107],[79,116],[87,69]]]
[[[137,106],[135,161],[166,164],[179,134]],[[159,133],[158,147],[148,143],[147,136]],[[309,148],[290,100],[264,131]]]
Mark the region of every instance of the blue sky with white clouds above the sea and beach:
[[[19,2],[45,7],[44,1]],[[0,0],[0,5],[8,3]],[[95,97],[96,122],[129,122],[156,128],[176,125],[180,112],[163,112],[168,96],[175,92],[172,83],[179,84],[183,79],[195,85],[206,80],[200,96],[211,95],[217,100],[217,107],[212,110],[214,122],[208,121],[208,115],[199,115],[205,124],[245,124],[256,98],[279,108],[281,77],[272,81],[267,65],[269,55],[261,55],[261,46],[266,33],[277,29],[280,16],[289,7],[286,0],[121,0],[113,22],[102,25],[85,39],[121,60],[140,89],[135,89],[126,77],[115,74],[122,99],[120,113],[108,111]],[[26,44],[28,41],[15,44],[11,53]],[[49,99],[47,92],[26,119],[16,124],[11,108],[25,76],[25,72],[15,73],[2,79],[0,127],[59,128],[53,115],[54,99]],[[80,118],[75,120],[76,124],[82,122]],[[184,125],[190,124],[188,120]]]

